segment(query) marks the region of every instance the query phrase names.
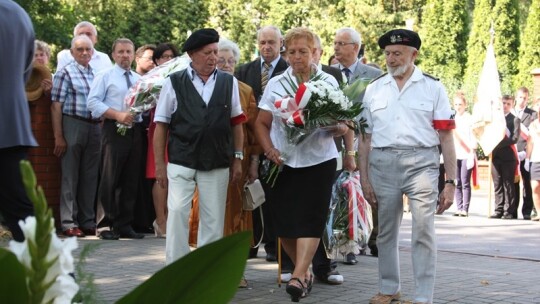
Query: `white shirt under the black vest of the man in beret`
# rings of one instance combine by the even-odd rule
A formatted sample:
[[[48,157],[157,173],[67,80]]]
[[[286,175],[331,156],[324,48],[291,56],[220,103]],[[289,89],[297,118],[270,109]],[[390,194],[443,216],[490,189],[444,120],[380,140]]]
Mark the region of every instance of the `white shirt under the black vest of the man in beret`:
[[[214,71],[213,76],[210,76],[208,80],[203,82],[203,80],[195,73],[191,65],[187,67],[188,75],[191,75],[191,81],[193,86],[204,100],[206,104],[210,102],[210,98],[214,93],[214,87],[216,86],[216,71]],[[178,101],[176,100],[176,92],[171,83],[171,78],[168,77],[163,84],[161,93],[159,94],[159,99],[156,105],[156,114],[154,116],[154,122],[164,122],[170,123],[171,117],[178,107]],[[233,79],[233,90],[231,97],[231,118],[236,117],[242,114],[242,105],[240,104],[240,93],[238,91],[238,80]]]

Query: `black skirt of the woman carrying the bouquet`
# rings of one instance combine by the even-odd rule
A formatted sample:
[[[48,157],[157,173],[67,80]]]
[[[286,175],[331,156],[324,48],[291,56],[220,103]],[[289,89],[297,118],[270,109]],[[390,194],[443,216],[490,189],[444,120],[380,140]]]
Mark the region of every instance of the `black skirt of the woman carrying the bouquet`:
[[[278,237],[322,236],[336,165],[334,158],[311,167],[283,167],[268,200]]]

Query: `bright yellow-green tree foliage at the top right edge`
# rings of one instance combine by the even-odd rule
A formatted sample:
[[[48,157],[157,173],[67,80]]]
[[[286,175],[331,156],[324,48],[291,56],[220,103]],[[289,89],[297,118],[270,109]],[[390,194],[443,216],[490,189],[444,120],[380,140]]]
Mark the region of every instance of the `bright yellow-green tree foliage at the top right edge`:
[[[514,79],[514,88],[532,88],[531,70],[540,67],[540,0],[533,0],[529,8],[527,24],[519,48],[519,74]]]

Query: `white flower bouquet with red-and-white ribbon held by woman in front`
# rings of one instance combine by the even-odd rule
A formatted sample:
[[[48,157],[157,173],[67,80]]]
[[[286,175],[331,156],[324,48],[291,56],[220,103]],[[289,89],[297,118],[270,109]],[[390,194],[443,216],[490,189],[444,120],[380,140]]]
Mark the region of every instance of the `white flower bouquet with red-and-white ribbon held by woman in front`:
[[[358,120],[362,104],[353,103],[340,88],[332,86],[323,77],[319,74],[299,85],[289,76],[283,78],[286,94],[274,101],[273,112],[287,137],[289,148],[280,151],[284,160],[287,150],[315,131],[331,130],[341,121],[346,121],[347,126],[356,131],[363,128],[364,120]],[[274,185],[280,168],[275,164],[269,167],[266,181]]]

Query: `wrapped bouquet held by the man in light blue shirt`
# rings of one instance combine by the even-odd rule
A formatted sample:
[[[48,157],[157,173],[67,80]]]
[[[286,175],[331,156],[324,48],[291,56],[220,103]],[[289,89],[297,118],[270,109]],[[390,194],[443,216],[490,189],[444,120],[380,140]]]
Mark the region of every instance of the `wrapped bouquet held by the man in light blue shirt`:
[[[124,103],[131,114],[137,115],[146,112],[156,106],[159,93],[165,79],[172,73],[188,67],[191,60],[187,55],[176,57],[166,63],[157,66],[144,74],[127,92]],[[118,133],[125,135],[129,125],[117,123]]]

